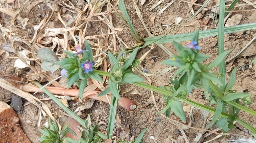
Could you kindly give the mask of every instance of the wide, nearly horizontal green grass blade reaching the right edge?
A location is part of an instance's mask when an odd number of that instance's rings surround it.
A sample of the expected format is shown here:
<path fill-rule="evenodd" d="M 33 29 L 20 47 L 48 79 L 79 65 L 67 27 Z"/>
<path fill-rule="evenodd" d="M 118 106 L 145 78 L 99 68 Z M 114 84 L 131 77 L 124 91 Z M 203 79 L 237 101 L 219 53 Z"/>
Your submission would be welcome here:
<path fill-rule="evenodd" d="M 224 34 L 234 33 L 234 32 L 239 32 L 239 31 L 245 31 L 245 30 L 251 30 L 251 29 L 256 29 L 256 22 L 248 23 L 248 24 L 235 25 L 235 26 L 230 26 L 230 27 L 224 27 Z M 209 34 L 209 32 L 210 32 L 210 34 Z M 162 39 L 156 41 L 155 44 L 170 43 L 170 42 L 173 42 L 173 41 L 179 42 L 179 41 L 191 40 L 193 34 L 194 33 L 168 35 L 168 36 L 165 36 Z M 217 36 L 217 35 L 218 35 L 218 29 L 212 29 L 211 31 L 210 30 L 204 30 L 204 31 L 199 31 L 198 38 L 207 38 L 207 37 Z M 144 45 L 150 45 L 153 41 L 159 39 L 160 37 L 161 36 L 144 38 L 144 41 L 146 42 Z"/>

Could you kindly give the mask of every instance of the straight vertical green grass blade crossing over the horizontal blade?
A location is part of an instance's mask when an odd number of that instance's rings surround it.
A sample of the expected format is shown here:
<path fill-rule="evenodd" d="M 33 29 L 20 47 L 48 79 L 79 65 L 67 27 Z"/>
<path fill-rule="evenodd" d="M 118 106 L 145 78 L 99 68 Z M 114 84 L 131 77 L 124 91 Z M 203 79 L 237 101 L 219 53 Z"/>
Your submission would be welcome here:
<path fill-rule="evenodd" d="M 218 31 L 218 54 L 224 52 L 224 18 L 225 18 L 225 0 L 220 0 L 219 3 L 219 31 Z M 224 59 L 219 63 L 219 73 L 225 75 L 225 61 Z M 222 85 L 225 86 L 225 76 L 219 77 Z M 222 89 L 223 86 L 220 85 Z"/>

